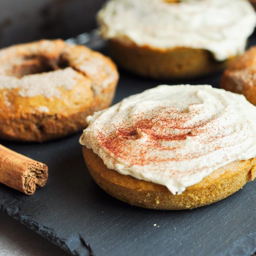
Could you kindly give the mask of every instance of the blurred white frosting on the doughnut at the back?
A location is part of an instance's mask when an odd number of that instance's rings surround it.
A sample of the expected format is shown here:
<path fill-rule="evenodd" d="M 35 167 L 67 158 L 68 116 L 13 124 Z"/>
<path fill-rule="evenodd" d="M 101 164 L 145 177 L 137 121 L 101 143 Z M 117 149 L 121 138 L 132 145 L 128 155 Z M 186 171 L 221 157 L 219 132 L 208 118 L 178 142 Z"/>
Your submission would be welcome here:
<path fill-rule="evenodd" d="M 110 0 L 98 21 L 105 39 L 206 49 L 223 61 L 243 53 L 256 14 L 246 0 Z"/>

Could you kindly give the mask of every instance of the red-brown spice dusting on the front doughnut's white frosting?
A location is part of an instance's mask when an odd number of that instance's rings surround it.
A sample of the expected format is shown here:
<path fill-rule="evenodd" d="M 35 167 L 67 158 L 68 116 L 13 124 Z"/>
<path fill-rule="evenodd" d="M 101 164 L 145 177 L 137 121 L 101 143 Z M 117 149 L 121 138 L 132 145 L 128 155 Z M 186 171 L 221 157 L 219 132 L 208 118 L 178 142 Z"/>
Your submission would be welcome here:
<path fill-rule="evenodd" d="M 200 157 L 203 154 L 200 151 L 187 152 L 185 155 L 179 153 L 181 142 L 188 137 L 207 134 L 207 141 L 203 141 L 206 140 L 203 139 L 204 136 L 200 137 L 200 142 L 207 144 L 210 140 L 215 141 L 223 136 L 221 133 L 214 132 L 215 129 L 217 132 L 219 130 L 215 127 L 216 117 L 208 120 L 196 119 L 196 121 L 191 121 L 196 115 L 202 114 L 202 110 L 200 112 L 195 109 L 189 113 L 188 111 L 177 111 L 169 108 L 168 111 L 164 110 L 166 109 L 160 109 L 159 115 L 153 115 L 153 117 L 151 115 L 150 119 L 146 118 L 148 113 L 134 115 L 132 126 L 127 120 L 124 120 L 118 123 L 118 126 L 113 126 L 114 131 L 111 134 L 104 135 L 99 132 L 100 144 L 110 154 L 128 161 L 130 165 L 143 166 L 152 162 L 156 164 L 157 162 L 182 161 L 183 159 Z M 165 141 L 172 143 L 165 144 Z M 213 147 L 213 150 L 217 149 L 220 149 L 218 145 Z M 150 154 L 152 151 L 161 151 L 163 154 Z"/>

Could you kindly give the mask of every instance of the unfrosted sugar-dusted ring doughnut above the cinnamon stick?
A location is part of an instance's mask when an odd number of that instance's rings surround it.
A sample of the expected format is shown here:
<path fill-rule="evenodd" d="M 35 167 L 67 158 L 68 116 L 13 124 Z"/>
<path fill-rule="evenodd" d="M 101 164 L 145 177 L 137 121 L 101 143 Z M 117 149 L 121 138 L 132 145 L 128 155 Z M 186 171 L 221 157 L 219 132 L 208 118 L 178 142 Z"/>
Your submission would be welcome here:
<path fill-rule="evenodd" d="M 40 40 L 0 50 L 0 138 L 47 141 L 73 134 L 110 105 L 115 64 L 84 46 Z"/>

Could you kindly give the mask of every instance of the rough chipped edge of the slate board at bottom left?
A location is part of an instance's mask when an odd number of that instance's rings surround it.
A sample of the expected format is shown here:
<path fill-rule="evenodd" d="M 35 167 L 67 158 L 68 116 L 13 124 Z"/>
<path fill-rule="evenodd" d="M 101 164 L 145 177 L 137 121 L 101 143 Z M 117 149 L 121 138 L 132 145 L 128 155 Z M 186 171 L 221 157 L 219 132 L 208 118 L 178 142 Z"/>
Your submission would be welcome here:
<path fill-rule="evenodd" d="M 13 196 L 10 196 L 13 197 Z M 12 203 L 13 202 L 13 203 Z M 32 229 L 34 232 L 47 239 L 49 242 L 54 243 L 61 249 L 65 250 L 67 253 L 75 256 L 94 256 L 93 251 L 88 243 L 84 240 L 81 234 L 77 234 L 77 239 L 80 240 L 81 245 L 85 249 L 84 254 L 79 253 L 75 249 L 71 249 L 67 245 L 67 239 L 61 238 L 54 232 L 54 229 L 40 225 L 35 221 L 29 220 L 28 215 L 19 214 L 21 208 L 19 205 L 19 199 L 13 197 L 12 202 L 9 202 L 7 198 L 0 198 L 0 209 L 5 212 L 8 216 L 11 216 L 13 219 L 17 220 L 21 224 L 25 225 L 27 228 Z"/>

